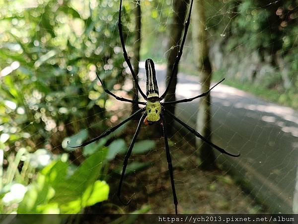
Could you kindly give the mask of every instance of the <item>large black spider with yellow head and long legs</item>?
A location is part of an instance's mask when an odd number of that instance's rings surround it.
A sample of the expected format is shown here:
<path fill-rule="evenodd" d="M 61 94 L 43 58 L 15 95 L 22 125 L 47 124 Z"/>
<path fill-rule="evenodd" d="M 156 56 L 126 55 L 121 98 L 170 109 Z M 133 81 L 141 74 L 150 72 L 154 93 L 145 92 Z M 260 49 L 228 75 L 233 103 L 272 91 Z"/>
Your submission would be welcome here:
<path fill-rule="evenodd" d="M 99 79 L 104 91 L 113 96 L 114 98 L 116 98 L 119 101 L 124 101 L 124 102 L 130 102 L 132 104 L 138 104 L 138 105 L 145 105 L 144 108 L 138 110 L 137 112 L 133 113 L 131 116 L 129 116 L 128 118 L 126 118 L 125 120 L 123 120 L 122 122 L 120 122 L 119 124 L 105 130 L 101 135 L 81 143 L 80 145 L 76 145 L 76 146 L 71 146 L 73 148 L 76 147 L 81 147 L 81 146 L 86 146 L 94 141 L 99 140 L 100 138 L 103 138 L 105 136 L 107 136 L 108 134 L 112 133 L 113 131 L 115 131 L 117 128 L 119 128 L 120 126 L 122 126 L 123 124 L 125 124 L 126 122 L 128 122 L 129 120 L 131 120 L 133 117 L 135 117 L 137 114 L 139 113 L 143 113 L 143 115 L 140 118 L 139 124 L 137 126 L 137 130 L 135 132 L 135 135 L 133 137 L 133 140 L 129 146 L 129 149 L 125 155 L 124 158 L 124 162 L 123 162 L 123 169 L 122 169 L 122 174 L 121 174 L 121 178 L 120 178 L 120 182 L 119 182 L 119 187 L 118 187 L 118 191 L 117 191 L 117 197 L 119 198 L 120 202 L 124 205 L 128 205 L 132 199 L 129 200 L 129 202 L 124 203 L 121 198 L 121 186 L 122 186 L 122 182 L 123 182 L 123 178 L 125 175 L 125 170 L 126 170 L 126 166 L 128 163 L 128 159 L 132 153 L 134 144 L 136 142 L 137 136 L 139 134 L 140 128 L 142 123 L 144 122 L 146 125 L 151 125 L 153 123 L 159 123 L 162 126 L 163 129 L 163 136 L 164 136 L 164 143 L 165 143 L 165 150 L 166 150 L 166 159 L 167 159 L 167 163 L 168 163 L 168 169 L 169 169 L 169 174 L 170 174 L 170 178 L 171 178 L 171 186 L 172 186 L 172 192 L 173 192 L 173 199 L 174 199 L 174 205 L 175 205 L 175 213 L 177 214 L 177 205 L 178 205 L 178 200 L 177 200 L 177 196 L 176 196 L 176 191 L 175 191 L 175 185 L 174 185 L 174 177 L 173 177 L 173 166 L 172 166 L 172 161 L 171 161 L 171 156 L 170 156 L 170 150 L 169 150 L 169 145 L 168 145 L 168 140 L 167 140 L 167 131 L 166 131 L 166 120 L 165 120 L 165 115 L 169 115 L 170 117 L 172 117 L 174 120 L 178 121 L 178 123 L 180 123 L 181 125 L 183 125 L 186 129 L 188 129 L 191 133 L 193 133 L 195 136 L 201 138 L 203 141 L 205 141 L 206 143 L 208 143 L 209 145 L 213 146 L 214 148 L 216 148 L 217 150 L 219 150 L 221 153 L 227 154 L 229 156 L 234 156 L 237 157 L 240 155 L 240 153 L 238 155 L 234 155 L 231 153 L 226 152 L 223 148 L 213 144 L 212 142 L 208 141 L 204 136 L 202 136 L 199 132 L 197 132 L 195 129 L 191 128 L 189 125 L 187 125 L 186 123 L 184 123 L 182 120 L 180 120 L 178 117 L 176 117 L 173 113 L 167 111 L 164 106 L 165 105 L 173 105 L 173 104 L 178 104 L 178 103 L 184 103 L 184 102 L 190 102 L 193 101 L 197 98 L 200 97 L 204 97 L 206 95 L 209 94 L 209 92 L 216 87 L 218 84 L 220 84 L 221 82 L 224 81 L 224 79 L 222 81 L 220 81 L 219 83 L 217 83 L 215 86 L 213 86 L 211 89 L 209 89 L 207 92 L 193 97 L 193 98 L 189 98 L 189 99 L 183 99 L 183 100 L 178 100 L 178 101 L 172 101 L 172 102 L 160 102 L 162 101 L 168 90 L 170 87 L 170 83 L 173 79 L 174 73 L 176 72 L 177 68 L 178 68 L 178 63 L 180 61 L 181 55 L 182 55 L 182 50 L 183 50 L 183 46 L 184 46 L 184 42 L 185 42 L 185 38 L 186 38 L 186 34 L 187 34 L 187 30 L 188 30 L 188 26 L 189 26 L 189 21 L 190 21 L 190 15 L 191 15 L 191 9 L 192 9 L 192 5 L 193 5 L 193 0 L 191 0 L 190 3 L 190 9 L 189 9 L 189 14 L 188 14 L 188 18 L 185 22 L 185 30 L 184 30 L 184 34 L 183 34 L 183 39 L 181 42 L 181 46 L 178 52 L 178 55 L 176 57 L 174 66 L 173 66 L 173 70 L 172 70 L 172 74 L 170 76 L 168 85 L 166 87 L 166 90 L 164 91 L 164 93 L 159 97 L 159 92 L 158 92 L 158 86 L 157 86 L 157 81 L 156 81 L 156 77 L 155 77 L 155 69 L 154 69 L 154 63 L 151 59 L 147 59 L 146 63 L 145 63 L 145 69 L 146 69 L 146 95 L 143 93 L 143 91 L 141 90 L 139 84 L 138 84 L 138 80 L 137 80 L 137 76 L 134 73 L 133 67 L 131 65 L 130 59 L 127 56 L 127 52 L 125 49 L 125 44 L 124 44 L 124 39 L 123 39 L 123 33 L 122 33 L 122 23 L 121 23 L 121 8 L 122 8 L 122 0 L 120 0 L 120 7 L 119 7 L 119 20 L 118 20 L 118 28 L 119 28 L 119 33 L 120 33 L 120 40 L 121 40 L 121 45 L 123 48 L 123 56 L 124 59 L 126 61 L 126 63 L 128 64 L 128 67 L 130 68 L 130 71 L 132 73 L 132 76 L 134 78 L 134 81 L 136 83 L 136 86 L 139 90 L 139 92 L 141 93 L 141 95 L 144 97 L 144 99 L 147 101 L 147 103 L 145 102 L 139 102 L 139 101 L 134 101 L 134 100 L 129 100 L 129 99 L 125 99 L 122 97 L 118 97 L 115 94 L 111 93 L 109 90 L 107 90 L 102 82 L 102 80 L 99 78 L 99 75 L 96 73 L 97 78 Z M 69 142 L 68 142 L 69 144 Z"/>

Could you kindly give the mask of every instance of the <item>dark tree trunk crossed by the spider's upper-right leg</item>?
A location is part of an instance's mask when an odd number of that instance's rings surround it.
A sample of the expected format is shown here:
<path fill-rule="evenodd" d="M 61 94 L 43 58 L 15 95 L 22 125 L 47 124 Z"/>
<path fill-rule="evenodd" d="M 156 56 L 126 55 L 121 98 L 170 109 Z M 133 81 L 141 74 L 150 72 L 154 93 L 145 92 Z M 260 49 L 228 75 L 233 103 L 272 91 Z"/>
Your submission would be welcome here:
<path fill-rule="evenodd" d="M 173 16 L 173 21 L 169 26 L 170 33 L 169 33 L 169 42 L 167 47 L 169 51 L 168 51 L 168 60 L 167 60 L 168 62 L 167 62 L 167 70 L 166 70 L 166 80 L 167 80 L 166 85 L 168 84 L 168 81 L 173 71 L 175 59 L 178 55 L 180 39 L 182 38 L 182 33 L 184 30 L 184 22 L 185 22 L 185 16 L 187 13 L 188 3 L 189 3 L 189 0 L 173 1 L 174 16 Z M 175 91 L 176 91 L 176 84 L 177 84 L 177 71 L 178 69 L 174 74 L 170 88 L 164 100 L 165 102 L 175 101 L 176 99 Z M 172 113 L 175 112 L 174 106 L 168 106 L 167 109 Z M 169 125 L 171 124 L 171 122 L 172 122 L 172 119 L 167 119 L 167 123 Z"/>

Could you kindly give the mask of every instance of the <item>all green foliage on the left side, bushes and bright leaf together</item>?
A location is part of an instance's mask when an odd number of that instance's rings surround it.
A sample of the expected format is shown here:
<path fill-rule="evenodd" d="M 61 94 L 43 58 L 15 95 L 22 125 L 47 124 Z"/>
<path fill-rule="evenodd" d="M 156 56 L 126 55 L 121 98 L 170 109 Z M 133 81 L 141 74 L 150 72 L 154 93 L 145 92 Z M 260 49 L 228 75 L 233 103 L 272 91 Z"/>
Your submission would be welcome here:
<path fill-rule="evenodd" d="M 127 33 L 134 5 L 123 6 Z M 0 0 L 1 213 L 78 213 L 107 199 L 109 161 L 127 149 L 111 137 L 125 126 L 82 153 L 67 141 L 111 125 L 113 102 L 95 71 L 122 90 L 118 10 L 118 0 Z M 132 35 L 124 37 L 130 53 Z"/>

